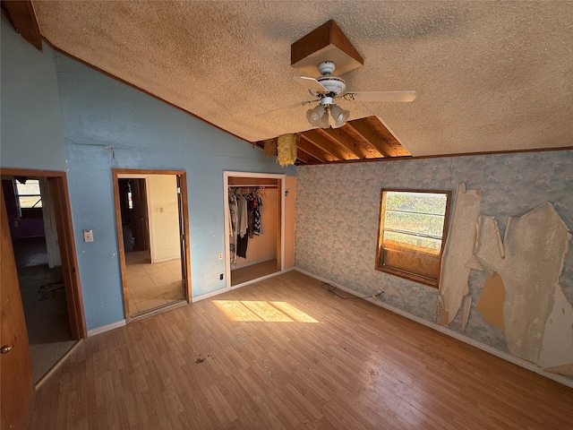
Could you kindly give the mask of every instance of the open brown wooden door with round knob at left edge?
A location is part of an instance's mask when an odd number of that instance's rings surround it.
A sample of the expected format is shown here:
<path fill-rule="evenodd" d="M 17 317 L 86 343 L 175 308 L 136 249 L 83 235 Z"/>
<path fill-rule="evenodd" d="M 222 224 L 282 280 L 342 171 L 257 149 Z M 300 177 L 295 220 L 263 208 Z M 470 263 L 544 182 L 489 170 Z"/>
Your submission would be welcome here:
<path fill-rule="evenodd" d="M 8 227 L 8 215 L 2 200 L 2 280 L 0 287 L 0 392 L 2 393 L 1 428 L 28 428 L 34 404 L 34 377 L 30 345 L 21 305 L 18 272 Z"/>

